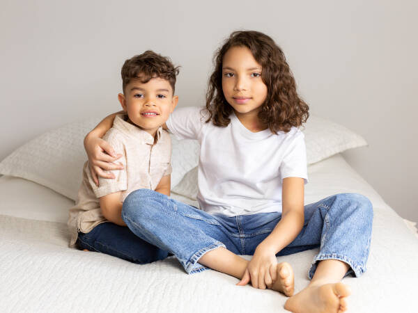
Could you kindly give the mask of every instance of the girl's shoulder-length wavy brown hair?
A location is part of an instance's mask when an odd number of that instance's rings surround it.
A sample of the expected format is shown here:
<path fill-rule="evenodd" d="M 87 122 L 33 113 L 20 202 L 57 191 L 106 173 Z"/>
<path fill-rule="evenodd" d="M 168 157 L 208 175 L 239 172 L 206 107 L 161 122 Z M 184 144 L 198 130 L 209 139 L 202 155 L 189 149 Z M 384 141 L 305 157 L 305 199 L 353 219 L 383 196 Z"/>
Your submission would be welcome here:
<path fill-rule="evenodd" d="M 296 83 L 283 51 L 268 35 L 258 31 L 234 31 L 215 53 L 215 70 L 209 78 L 206 93 L 208 120 L 216 126 L 226 127 L 233 107 L 222 91 L 222 61 L 231 47 L 247 47 L 262 66 L 261 79 L 268 95 L 258 112 L 258 119 L 277 134 L 300 127 L 309 118 L 309 106 L 297 95 Z"/>

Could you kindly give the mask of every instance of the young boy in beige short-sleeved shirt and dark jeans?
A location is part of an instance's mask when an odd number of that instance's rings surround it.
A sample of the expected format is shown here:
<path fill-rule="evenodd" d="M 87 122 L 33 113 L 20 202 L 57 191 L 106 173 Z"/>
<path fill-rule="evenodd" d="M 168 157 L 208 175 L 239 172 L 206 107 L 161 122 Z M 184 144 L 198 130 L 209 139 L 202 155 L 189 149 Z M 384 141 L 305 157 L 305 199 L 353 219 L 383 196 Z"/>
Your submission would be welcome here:
<path fill-rule="evenodd" d="M 97 179 L 88 170 L 88 161 L 84 163 L 82 186 L 68 220 L 70 246 L 143 264 L 164 259 L 168 252 L 129 230 L 121 218 L 122 204 L 139 188 L 170 195 L 171 140 L 162 125 L 178 102 L 174 96 L 178 67 L 145 51 L 125 61 L 121 74 L 123 93 L 118 99 L 123 113 L 104 138 L 121 155 L 118 163 L 123 169 Z"/>

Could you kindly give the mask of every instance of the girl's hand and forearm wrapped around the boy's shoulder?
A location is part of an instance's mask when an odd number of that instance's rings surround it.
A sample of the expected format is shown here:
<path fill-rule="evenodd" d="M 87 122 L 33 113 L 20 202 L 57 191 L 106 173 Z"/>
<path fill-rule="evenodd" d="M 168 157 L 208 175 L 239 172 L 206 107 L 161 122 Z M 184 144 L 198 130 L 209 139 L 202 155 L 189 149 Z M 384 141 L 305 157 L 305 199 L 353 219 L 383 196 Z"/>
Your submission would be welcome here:
<path fill-rule="evenodd" d="M 122 154 L 116 154 L 113 147 L 102 136 L 112 127 L 116 115 L 123 113 L 113 113 L 102 120 L 92 131 L 84 138 L 84 149 L 88 157 L 88 166 L 91 177 L 97 186 L 99 186 L 98 176 L 104 178 L 114 178 L 114 175 L 104 170 L 122 170 L 123 166 L 114 163 Z"/>

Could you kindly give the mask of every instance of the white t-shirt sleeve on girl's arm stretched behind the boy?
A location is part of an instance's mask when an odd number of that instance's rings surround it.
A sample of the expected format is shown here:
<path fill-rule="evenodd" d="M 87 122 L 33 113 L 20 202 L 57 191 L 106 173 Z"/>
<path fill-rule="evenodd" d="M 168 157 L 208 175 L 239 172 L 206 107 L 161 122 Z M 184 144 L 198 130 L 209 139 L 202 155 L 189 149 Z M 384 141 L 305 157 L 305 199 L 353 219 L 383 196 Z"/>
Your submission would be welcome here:
<path fill-rule="evenodd" d="M 205 117 L 201 106 L 178 108 L 171 113 L 166 124 L 178 139 L 199 139 Z"/>

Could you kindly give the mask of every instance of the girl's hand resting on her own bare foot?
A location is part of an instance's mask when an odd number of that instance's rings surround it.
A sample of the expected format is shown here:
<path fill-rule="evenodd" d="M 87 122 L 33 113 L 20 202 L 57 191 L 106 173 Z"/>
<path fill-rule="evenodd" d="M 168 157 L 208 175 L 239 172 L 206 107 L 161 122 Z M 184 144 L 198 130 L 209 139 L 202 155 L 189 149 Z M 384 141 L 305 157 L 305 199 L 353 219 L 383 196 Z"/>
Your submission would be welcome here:
<path fill-rule="evenodd" d="M 253 258 L 238 286 L 245 286 L 251 280 L 252 287 L 265 289 L 277 280 L 277 259 L 270 247 L 258 245 Z"/>

